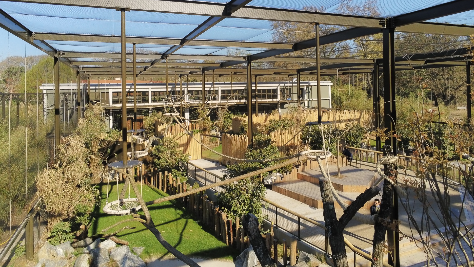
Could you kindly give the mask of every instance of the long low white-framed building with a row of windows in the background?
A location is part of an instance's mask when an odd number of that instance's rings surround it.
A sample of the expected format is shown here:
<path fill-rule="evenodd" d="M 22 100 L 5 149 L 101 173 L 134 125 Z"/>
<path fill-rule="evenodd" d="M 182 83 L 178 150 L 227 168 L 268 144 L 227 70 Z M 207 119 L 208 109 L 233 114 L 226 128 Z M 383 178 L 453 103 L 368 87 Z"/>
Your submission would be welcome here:
<path fill-rule="evenodd" d="M 301 82 L 301 88 L 296 88 L 296 82 L 255 82 L 252 83 L 253 112 L 258 114 L 278 110 L 284 113 L 292 106 L 301 105 L 306 108 L 317 108 L 318 94 L 316 82 Z M 321 81 L 321 107 L 330 109 L 330 81 Z M 40 89 L 44 94 L 44 112 L 54 106 L 54 84 L 43 84 Z M 75 118 L 77 107 L 77 84 L 60 84 L 60 113 L 61 120 Z M 164 106 L 175 106 L 186 118 L 190 118 L 197 106 L 202 104 L 201 83 L 137 83 L 137 114 L 149 114 L 153 110 L 163 110 Z M 133 115 L 134 103 L 133 83 L 127 81 L 128 115 Z M 166 95 L 170 95 L 167 99 Z M 215 82 L 205 83 L 205 102 L 207 105 L 226 105 L 232 112 L 247 111 L 247 96 L 245 82 Z M 87 98 L 89 96 L 89 99 Z M 109 118 L 110 127 L 120 124 L 120 109 L 122 106 L 122 89 L 120 80 L 90 80 L 81 86 L 81 110 L 87 101 L 102 105 Z"/>

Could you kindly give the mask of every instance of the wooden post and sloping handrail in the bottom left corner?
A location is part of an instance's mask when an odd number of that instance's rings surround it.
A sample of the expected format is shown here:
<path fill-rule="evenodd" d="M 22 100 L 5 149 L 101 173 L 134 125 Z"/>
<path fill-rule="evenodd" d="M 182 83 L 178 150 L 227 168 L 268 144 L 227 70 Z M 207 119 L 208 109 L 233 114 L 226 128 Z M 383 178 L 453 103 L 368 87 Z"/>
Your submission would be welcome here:
<path fill-rule="evenodd" d="M 0 263 L 5 260 L 5 257 L 9 254 L 12 247 L 16 245 L 17 239 L 23 234 L 23 229 L 25 229 L 25 248 L 26 248 L 26 258 L 27 260 L 34 259 L 34 250 L 35 243 L 40 239 L 42 234 L 42 220 L 39 215 L 39 206 L 40 201 L 36 201 L 33 205 L 33 208 L 28 212 L 27 216 L 23 221 L 18 225 L 15 232 L 10 237 L 7 245 L 0 252 Z M 45 222 L 43 221 L 43 224 Z"/>

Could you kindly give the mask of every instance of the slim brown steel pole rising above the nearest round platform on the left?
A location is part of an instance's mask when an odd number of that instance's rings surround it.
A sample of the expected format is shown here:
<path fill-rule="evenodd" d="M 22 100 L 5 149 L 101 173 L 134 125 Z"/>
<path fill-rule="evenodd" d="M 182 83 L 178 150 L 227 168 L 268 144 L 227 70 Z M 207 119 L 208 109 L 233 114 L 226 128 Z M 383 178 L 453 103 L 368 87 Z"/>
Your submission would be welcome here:
<path fill-rule="evenodd" d="M 121 68 L 122 68 L 122 163 L 128 163 L 127 142 L 127 55 L 125 47 L 125 9 L 120 9 L 120 40 L 121 40 Z"/>

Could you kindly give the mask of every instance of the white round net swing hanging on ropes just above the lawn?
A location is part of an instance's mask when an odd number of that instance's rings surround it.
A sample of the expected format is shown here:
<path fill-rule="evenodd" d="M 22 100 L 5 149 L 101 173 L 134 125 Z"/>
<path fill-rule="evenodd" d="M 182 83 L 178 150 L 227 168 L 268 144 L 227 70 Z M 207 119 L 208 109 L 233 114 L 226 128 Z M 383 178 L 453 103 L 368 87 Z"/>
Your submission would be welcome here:
<path fill-rule="evenodd" d="M 128 161 L 128 162 L 138 162 L 138 161 Z M 114 163 L 116 163 L 116 162 L 114 162 Z M 140 166 L 140 172 L 139 173 L 140 173 L 140 181 L 141 181 L 141 179 L 142 179 L 142 177 L 141 177 L 141 164 L 139 166 Z M 113 180 L 114 179 L 113 177 L 115 177 L 115 180 L 117 181 L 117 200 L 109 202 L 109 181 Z M 102 211 L 104 213 L 113 214 L 113 215 L 128 215 L 128 214 L 132 214 L 133 212 L 136 212 L 137 210 L 140 210 L 142 208 L 142 206 L 140 205 L 140 202 L 138 201 L 138 199 L 137 198 L 130 198 L 130 187 L 131 187 L 131 185 L 128 185 L 128 198 L 119 199 L 120 195 L 119 195 L 119 192 L 118 192 L 118 173 L 117 173 L 117 171 L 114 171 L 113 177 L 112 177 L 112 175 L 109 175 L 109 177 L 107 177 L 107 198 L 106 198 L 105 206 L 102 208 Z"/>

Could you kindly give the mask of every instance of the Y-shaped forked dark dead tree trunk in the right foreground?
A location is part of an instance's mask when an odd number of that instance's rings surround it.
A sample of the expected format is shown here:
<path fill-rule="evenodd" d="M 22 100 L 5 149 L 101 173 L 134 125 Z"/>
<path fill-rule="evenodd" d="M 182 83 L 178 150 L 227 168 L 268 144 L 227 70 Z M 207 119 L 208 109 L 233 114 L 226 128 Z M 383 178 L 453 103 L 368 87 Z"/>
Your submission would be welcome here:
<path fill-rule="evenodd" d="M 329 180 L 326 178 L 319 179 L 321 189 L 321 197 L 323 201 L 324 223 L 328 229 L 329 245 L 331 246 L 332 259 L 335 267 L 348 267 L 346 247 L 344 243 L 343 231 L 347 223 L 356 215 L 356 212 L 365 205 L 380 191 L 380 188 L 373 186 L 365 190 L 357 196 L 344 211 L 341 218 L 337 219 L 336 210 L 334 208 L 334 199 L 332 197 Z"/>

